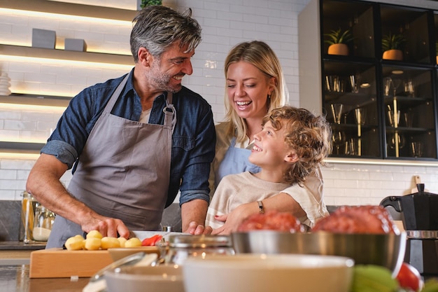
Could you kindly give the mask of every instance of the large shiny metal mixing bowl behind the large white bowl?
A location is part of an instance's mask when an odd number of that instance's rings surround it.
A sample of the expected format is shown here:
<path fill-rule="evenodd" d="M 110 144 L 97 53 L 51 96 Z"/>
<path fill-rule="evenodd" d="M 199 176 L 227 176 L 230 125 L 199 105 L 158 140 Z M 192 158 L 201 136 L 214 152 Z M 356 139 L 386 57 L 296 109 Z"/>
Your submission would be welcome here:
<path fill-rule="evenodd" d="M 396 275 L 404 260 L 406 233 L 289 233 L 253 230 L 232 233 L 236 253 L 299 253 L 353 258 L 356 265 L 381 265 Z"/>

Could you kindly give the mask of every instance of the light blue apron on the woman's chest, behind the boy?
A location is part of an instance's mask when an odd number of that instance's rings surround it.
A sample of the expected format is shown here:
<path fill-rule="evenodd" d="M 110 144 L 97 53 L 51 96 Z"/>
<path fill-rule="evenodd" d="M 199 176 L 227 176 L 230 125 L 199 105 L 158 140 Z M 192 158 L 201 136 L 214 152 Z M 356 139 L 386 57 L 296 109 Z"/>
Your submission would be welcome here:
<path fill-rule="evenodd" d="M 260 172 L 260 167 L 253 165 L 253 163 L 248 160 L 251 151 L 246 148 L 236 148 L 234 147 L 235 145 L 236 137 L 233 137 L 227 152 L 225 152 L 224 159 L 220 162 L 218 170 L 216 170 L 216 188 L 222 177 L 228 174 L 239 174 L 241 172 L 252 172 L 253 174 L 256 174 L 257 172 Z"/>

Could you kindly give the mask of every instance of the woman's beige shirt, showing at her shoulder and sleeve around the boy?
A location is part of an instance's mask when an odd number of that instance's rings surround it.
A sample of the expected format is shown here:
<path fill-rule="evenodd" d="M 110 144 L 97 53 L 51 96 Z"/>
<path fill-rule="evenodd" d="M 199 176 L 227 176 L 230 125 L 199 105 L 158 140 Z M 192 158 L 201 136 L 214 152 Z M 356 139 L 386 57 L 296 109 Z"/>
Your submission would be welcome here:
<path fill-rule="evenodd" d="M 216 125 L 216 155 L 215 158 L 213 159 L 213 162 L 211 163 L 210 178 L 209 178 L 210 190 L 211 190 L 210 192 L 211 204 L 213 204 L 214 197 L 216 196 L 215 193 L 216 186 L 214 183 L 215 181 L 214 176 L 216 173 L 216 169 L 218 169 L 220 162 L 222 162 L 223 158 L 225 157 L 225 153 L 227 152 L 227 149 L 231 145 L 231 140 L 225 136 L 226 126 L 227 125 L 225 123 Z M 236 142 L 236 147 L 248 148 L 248 149 L 253 148 L 252 144 L 250 145 L 248 144 L 250 144 L 249 139 L 243 141 L 243 143 L 240 144 Z M 318 176 L 307 177 L 306 181 L 304 181 L 304 186 L 299 186 L 297 184 L 292 186 L 288 185 L 286 188 L 284 188 L 281 191 L 279 190 L 277 193 L 287 193 L 288 195 L 293 197 L 293 199 L 306 212 L 306 218 L 300 219 L 301 223 L 309 226 L 309 228 L 312 228 L 313 225 L 316 223 L 316 221 L 318 221 L 318 219 L 329 216 L 327 207 L 325 206 L 325 202 L 324 202 L 323 176 L 320 172 L 318 173 Z M 245 203 L 255 202 L 255 201 L 256 200 L 246 201 Z M 207 216 L 209 215 L 207 214 Z"/>

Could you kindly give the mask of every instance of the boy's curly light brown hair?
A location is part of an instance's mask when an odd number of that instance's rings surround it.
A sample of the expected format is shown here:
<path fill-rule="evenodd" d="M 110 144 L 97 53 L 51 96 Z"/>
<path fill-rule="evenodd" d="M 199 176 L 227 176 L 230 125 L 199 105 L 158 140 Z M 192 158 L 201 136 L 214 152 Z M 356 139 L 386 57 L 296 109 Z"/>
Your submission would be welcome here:
<path fill-rule="evenodd" d="M 263 125 L 268 121 L 275 130 L 285 127 L 285 144 L 298 156 L 284 174 L 286 182 L 302 183 L 306 176 L 316 174 L 319 165 L 325 165 L 324 158 L 332 151 L 332 128 L 323 116 L 282 106 L 264 116 Z"/>

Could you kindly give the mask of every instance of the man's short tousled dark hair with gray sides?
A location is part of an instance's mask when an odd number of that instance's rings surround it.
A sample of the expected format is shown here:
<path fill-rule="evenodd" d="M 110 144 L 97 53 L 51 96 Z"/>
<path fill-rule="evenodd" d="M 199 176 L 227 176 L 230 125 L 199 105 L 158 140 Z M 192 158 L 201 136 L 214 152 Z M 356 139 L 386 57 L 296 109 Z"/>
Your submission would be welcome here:
<path fill-rule="evenodd" d="M 201 42 L 201 27 L 191 18 L 192 10 L 179 13 L 166 6 L 146 6 L 132 21 L 131 52 L 134 62 L 139 62 L 139 48 L 146 48 L 154 57 L 162 53 L 176 41 L 180 48 L 188 46 L 187 53 Z"/>

